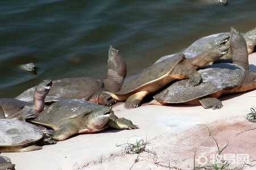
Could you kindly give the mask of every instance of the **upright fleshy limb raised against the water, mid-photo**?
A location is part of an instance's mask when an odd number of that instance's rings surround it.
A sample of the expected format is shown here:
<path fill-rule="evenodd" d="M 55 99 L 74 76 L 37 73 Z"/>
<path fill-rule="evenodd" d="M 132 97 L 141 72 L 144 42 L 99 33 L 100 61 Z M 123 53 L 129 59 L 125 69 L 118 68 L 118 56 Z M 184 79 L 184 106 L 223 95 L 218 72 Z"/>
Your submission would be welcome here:
<path fill-rule="evenodd" d="M 103 81 L 107 90 L 117 92 L 123 86 L 123 81 L 126 76 L 125 59 L 110 45 L 108 58 L 108 74 Z"/>

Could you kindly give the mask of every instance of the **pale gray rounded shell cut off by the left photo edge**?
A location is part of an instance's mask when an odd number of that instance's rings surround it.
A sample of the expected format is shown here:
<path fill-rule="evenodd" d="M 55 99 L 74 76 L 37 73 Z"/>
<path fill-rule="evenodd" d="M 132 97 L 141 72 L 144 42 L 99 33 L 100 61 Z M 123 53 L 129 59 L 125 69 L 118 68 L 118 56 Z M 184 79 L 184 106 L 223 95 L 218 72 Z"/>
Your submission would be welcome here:
<path fill-rule="evenodd" d="M 26 146 L 42 137 L 43 132 L 38 126 L 19 120 L 0 120 L 0 147 Z"/>

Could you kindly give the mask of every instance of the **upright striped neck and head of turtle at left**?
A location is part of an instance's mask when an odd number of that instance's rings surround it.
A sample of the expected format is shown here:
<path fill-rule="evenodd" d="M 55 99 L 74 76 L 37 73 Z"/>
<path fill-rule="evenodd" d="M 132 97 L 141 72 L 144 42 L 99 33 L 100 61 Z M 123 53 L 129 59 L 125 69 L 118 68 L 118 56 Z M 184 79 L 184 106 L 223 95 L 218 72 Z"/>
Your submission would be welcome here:
<path fill-rule="evenodd" d="M 52 88 L 52 80 L 46 79 L 43 80 L 35 88 L 34 92 L 34 111 L 35 114 L 38 114 L 44 109 L 44 99 L 46 98 L 49 90 Z"/>

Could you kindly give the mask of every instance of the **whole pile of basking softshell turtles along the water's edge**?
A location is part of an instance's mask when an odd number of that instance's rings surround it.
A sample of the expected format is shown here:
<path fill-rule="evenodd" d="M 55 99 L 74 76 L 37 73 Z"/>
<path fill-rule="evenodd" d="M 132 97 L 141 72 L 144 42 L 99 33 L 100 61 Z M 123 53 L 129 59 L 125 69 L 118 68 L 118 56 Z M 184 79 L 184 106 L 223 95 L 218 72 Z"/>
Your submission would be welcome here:
<path fill-rule="evenodd" d="M 256 73 L 250 72 L 248 62 L 255 45 L 256 28 L 241 35 L 232 27 L 127 77 L 125 59 L 110 46 L 105 80 L 46 79 L 15 99 L 0 99 L 0 152 L 39 150 L 77 133 L 139 128 L 115 116 L 111 106 L 117 101 L 125 101 L 129 109 L 146 98 L 154 99 L 150 104 L 220 109 L 219 96 L 256 88 Z"/>

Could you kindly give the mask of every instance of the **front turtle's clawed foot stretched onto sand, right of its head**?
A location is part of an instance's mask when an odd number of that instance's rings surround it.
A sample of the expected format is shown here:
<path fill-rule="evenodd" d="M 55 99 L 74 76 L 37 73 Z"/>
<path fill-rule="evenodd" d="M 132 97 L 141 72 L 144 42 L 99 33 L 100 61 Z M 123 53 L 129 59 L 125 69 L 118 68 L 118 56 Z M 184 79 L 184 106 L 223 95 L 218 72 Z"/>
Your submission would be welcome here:
<path fill-rule="evenodd" d="M 126 118 L 118 118 L 115 114 L 110 114 L 107 124 L 110 128 L 115 129 L 138 129 L 138 125 L 134 125 L 133 122 Z"/>

